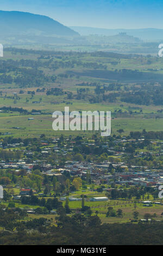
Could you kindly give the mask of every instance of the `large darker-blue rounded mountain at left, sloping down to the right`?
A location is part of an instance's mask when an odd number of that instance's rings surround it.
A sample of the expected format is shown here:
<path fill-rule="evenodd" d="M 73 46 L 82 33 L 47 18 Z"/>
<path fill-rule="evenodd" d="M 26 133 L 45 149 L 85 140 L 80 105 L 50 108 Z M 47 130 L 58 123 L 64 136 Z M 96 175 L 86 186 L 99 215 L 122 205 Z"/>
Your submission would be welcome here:
<path fill-rule="evenodd" d="M 79 35 L 47 16 L 21 11 L 0 11 L 1 35 Z"/>

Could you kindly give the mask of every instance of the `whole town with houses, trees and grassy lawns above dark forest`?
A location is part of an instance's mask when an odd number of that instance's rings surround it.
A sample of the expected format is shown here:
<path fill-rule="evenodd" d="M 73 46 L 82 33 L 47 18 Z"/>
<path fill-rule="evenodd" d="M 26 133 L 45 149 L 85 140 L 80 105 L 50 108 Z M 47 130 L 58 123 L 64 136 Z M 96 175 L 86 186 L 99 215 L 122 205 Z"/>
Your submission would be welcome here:
<path fill-rule="evenodd" d="M 162 132 L 145 130 L 104 138 L 1 138 L 1 207 L 28 217 L 54 215 L 54 224 L 64 205 L 70 216 L 97 215 L 107 223 L 160 221 L 161 138 Z"/>

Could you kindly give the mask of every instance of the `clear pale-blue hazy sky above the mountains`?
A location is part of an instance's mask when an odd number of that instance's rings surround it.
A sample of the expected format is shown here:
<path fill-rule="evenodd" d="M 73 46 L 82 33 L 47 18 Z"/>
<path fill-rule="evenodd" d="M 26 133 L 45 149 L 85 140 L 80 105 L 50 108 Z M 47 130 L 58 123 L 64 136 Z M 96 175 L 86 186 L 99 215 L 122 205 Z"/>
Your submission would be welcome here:
<path fill-rule="evenodd" d="M 0 9 L 47 15 L 66 26 L 163 28 L 162 0 L 5 0 Z"/>

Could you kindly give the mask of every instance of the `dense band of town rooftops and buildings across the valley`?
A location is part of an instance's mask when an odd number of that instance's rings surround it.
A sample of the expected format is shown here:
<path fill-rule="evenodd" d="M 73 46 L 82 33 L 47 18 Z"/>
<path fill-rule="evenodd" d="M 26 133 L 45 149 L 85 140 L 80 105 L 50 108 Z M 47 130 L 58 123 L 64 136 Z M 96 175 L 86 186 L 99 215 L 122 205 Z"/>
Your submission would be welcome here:
<path fill-rule="evenodd" d="M 43 151 L 45 153 L 46 151 Z M 27 153 L 26 153 L 27 154 Z M 41 171 L 47 175 L 62 175 L 65 170 L 70 172 L 71 175 L 86 176 L 87 172 L 90 172 L 91 179 L 95 184 L 101 184 L 101 180 L 104 180 L 107 184 L 120 185 L 141 185 L 141 186 L 159 186 L 163 184 L 163 171 L 148 169 L 145 166 L 126 166 L 124 162 L 113 164 L 111 162 L 103 163 L 88 163 L 68 161 L 65 163 L 64 168 L 59 168 L 58 172 L 54 172 L 54 166 L 49 163 L 42 162 L 40 160 L 27 163 L 26 160 L 18 160 L 18 162 L 1 161 L 0 169 L 14 169 L 15 172 L 20 172 L 24 169 L 28 174 L 32 172 L 33 167 L 36 164 L 41 163 Z M 121 167 L 122 172 L 112 172 L 117 167 Z M 126 170 L 127 169 L 127 170 Z M 114 181 L 113 181 L 114 180 Z"/>

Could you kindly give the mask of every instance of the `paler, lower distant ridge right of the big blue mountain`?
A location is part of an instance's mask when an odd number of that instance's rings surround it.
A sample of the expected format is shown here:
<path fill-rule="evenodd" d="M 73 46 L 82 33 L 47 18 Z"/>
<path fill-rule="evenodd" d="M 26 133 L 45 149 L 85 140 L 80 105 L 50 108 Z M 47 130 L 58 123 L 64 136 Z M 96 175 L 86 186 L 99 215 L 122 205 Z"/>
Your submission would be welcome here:
<path fill-rule="evenodd" d="M 162 40 L 163 29 L 157 28 L 142 28 L 142 29 L 106 29 L 106 28 L 92 28 L 92 27 L 70 27 L 80 35 L 117 35 L 119 33 L 127 33 L 127 35 L 135 36 L 142 40 Z"/>

